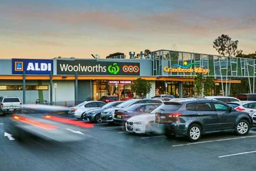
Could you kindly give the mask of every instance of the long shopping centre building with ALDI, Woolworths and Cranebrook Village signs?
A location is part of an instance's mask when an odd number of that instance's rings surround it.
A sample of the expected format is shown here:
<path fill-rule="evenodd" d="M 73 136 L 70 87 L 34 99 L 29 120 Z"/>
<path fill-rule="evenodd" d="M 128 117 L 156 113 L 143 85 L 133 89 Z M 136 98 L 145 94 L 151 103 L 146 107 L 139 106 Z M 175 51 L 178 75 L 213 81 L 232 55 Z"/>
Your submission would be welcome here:
<path fill-rule="evenodd" d="M 214 77 L 212 95 L 232 94 L 232 85 L 249 81 L 254 93 L 255 60 L 200 53 L 158 50 L 150 59 L 1 59 L 0 96 L 24 103 L 98 100 L 104 95 L 133 96 L 137 78 L 150 81 L 147 97 L 171 94 L 194 96 L 196 73 Z M 24 100 L 25 99 L 25 100 Z"/>

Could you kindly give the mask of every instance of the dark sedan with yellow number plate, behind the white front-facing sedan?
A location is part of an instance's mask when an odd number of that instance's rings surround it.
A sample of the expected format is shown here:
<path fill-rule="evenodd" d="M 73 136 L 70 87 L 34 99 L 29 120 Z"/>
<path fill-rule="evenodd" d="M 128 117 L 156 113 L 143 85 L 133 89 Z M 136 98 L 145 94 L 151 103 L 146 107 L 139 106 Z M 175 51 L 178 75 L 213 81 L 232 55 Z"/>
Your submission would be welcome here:
<path fill-rule="evenodd" d="M 161 104 L 134 104 L 125 109 L 117 109 L 114 114 L 114 123 L 118 125 L 125 125 L 126 121 L 142 113 L 150 113 L 152 110 L 160 106 Z"/>

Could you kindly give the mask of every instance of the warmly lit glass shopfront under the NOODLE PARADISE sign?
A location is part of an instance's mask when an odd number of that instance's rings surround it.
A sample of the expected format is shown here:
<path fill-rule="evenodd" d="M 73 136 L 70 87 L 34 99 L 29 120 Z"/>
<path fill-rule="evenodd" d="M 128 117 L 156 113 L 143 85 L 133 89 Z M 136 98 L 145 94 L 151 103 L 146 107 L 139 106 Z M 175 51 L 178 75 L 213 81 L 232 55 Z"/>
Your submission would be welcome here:
<path fill-rule="evenodd" d="M 115 81 L 116 82 L 116 81 Z M 106 95 L 114 95 L 118 96 L 119 99 L 131 98 L 133 95 L 131 93 L 131 85 L 125 84 L 124 81 L 117 81 L 117 87 L 115 82 L 106 81 L 106 80 L 96 80 L 93 82 L 93 99 L 98 100 L 101 99 L 102 96 Z"/>

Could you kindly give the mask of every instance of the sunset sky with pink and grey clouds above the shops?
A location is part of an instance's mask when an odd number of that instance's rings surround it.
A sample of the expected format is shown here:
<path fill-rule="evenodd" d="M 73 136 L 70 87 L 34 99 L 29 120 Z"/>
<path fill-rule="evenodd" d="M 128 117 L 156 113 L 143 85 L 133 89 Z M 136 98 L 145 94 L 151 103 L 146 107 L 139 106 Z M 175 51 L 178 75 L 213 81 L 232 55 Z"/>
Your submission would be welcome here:
<path fill-rule="evenodd" d="M 0 58 L 91 58 L 171 49 L 218 54 L 227 34 L 256 50 L 256 0 L 0 0 Z"/>

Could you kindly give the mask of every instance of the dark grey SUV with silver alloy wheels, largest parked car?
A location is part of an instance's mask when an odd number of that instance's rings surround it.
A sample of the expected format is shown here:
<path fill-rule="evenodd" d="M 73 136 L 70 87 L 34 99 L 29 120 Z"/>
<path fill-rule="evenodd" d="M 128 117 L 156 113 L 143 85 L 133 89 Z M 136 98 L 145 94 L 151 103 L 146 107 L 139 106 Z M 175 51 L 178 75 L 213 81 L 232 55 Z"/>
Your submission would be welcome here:
<path fill-rule="evenodd" d="M 162 127 L 165 136 L 176 134 L 198 141 L 202 134 L 234 131 L 248 134 L 252 126 L 249 113 L 240 112 L 219 100 L 183 99 L 164 102 L 155 113 L 154 127 Z"/>

